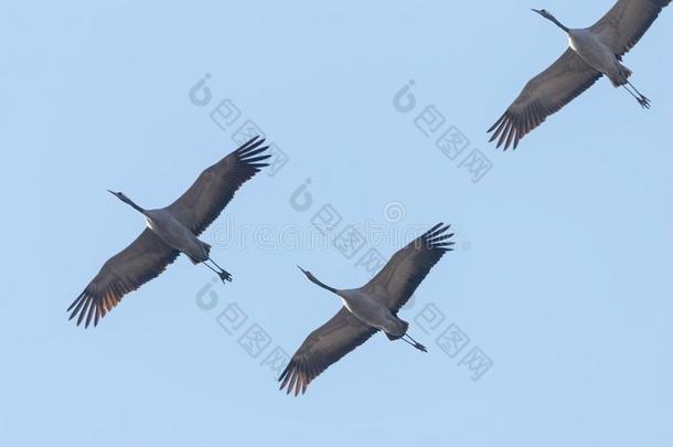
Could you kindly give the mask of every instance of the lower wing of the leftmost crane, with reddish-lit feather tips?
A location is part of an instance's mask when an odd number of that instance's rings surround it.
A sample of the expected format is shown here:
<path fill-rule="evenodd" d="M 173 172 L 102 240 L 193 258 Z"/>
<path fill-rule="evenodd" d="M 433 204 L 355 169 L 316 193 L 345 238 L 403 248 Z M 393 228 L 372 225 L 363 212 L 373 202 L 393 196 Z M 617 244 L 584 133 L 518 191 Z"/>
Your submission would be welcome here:
<path fill-rule="evenodd" d="M 113 310 L 121 298 L 159 276 L 171 264 L 179 251 L 168 246 L 151 230 L 146 228 L 128 247 L 109 258 L 98 275 L 86 286 L 67 311 L 88 328 Z M 86 320 L 85 320 L 86 317 Z"/>

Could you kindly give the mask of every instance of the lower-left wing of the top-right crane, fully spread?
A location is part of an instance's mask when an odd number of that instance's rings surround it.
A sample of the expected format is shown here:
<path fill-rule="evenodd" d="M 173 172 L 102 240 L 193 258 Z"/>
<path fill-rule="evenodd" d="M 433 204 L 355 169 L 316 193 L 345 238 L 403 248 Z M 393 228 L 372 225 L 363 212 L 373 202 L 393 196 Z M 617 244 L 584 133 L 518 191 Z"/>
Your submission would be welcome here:
<path fill-rule="evenodd" d="M 514 149 L 526 134 L 547 117 L 579 96 L 602 74 L 583 61 L 571 49 L 547 70 L 532 78 L 500 119 L 488 130 L 489 141 L 498 138 L 498 147 Z"/>

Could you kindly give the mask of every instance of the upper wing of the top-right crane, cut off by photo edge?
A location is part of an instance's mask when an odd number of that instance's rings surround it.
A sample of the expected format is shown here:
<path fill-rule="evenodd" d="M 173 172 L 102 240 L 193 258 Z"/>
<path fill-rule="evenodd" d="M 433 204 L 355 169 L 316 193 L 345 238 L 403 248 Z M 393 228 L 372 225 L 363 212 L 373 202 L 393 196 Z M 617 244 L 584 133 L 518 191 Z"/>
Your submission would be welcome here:
<path fill-rule="evenodd" d="M 621 57 L 638 43 L 669 3 L 671 0 L 619 0 L 589 30 Z"/>

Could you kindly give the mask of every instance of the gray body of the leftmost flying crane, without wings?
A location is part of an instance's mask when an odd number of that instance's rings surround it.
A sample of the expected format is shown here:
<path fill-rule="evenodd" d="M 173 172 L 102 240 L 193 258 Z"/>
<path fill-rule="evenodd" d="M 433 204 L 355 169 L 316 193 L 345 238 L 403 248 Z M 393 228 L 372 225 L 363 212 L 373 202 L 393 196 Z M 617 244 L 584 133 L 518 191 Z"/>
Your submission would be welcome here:
<path fill-rule="evenodd" d="M 148 210 L 143 214 L 147 226 L 165 244 L 188 255 L 194 264 L 207 260 L 211 246 L 196 237 L 169 210 Z"/>

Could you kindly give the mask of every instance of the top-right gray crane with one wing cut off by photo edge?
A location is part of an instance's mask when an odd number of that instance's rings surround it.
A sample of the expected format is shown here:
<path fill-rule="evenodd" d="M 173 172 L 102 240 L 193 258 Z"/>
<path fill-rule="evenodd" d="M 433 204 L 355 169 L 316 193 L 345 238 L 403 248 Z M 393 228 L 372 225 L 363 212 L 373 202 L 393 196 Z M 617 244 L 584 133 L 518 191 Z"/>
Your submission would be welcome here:
<path fill-rule="evenodd" d="M 567 35 L 569 47 L 547 70 L 532 78 L 502 117 L 488 130 L 490 141 L 514 149 L 549 115 L 592 86 L 603 74 L 623 87 L 643 108 L 650 99 L 631 84 L 632 72 L 621 63 L 671 0 L 619 0 L 592 26 L 569 29 L 546 10 L 536 10 Z"/>

